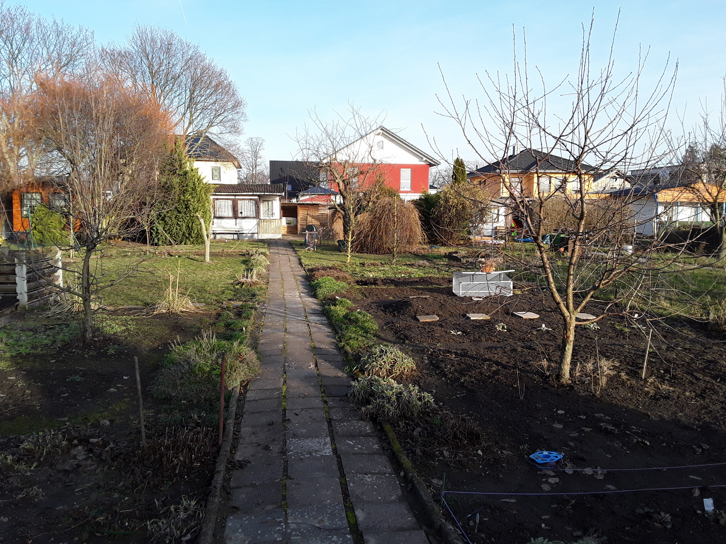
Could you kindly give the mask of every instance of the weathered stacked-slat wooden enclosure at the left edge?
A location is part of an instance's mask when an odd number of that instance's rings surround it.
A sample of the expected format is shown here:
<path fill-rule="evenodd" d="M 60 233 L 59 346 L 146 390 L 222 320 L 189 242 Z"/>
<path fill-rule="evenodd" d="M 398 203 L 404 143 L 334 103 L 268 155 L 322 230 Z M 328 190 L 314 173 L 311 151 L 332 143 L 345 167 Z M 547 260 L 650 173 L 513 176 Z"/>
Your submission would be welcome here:
<path fill-rule="evenodd" d="M 31 310 L 59 296 L 63 284 L 60 251 L 0 248 L 0 297 L 13 297 L 19 310 Z"/>

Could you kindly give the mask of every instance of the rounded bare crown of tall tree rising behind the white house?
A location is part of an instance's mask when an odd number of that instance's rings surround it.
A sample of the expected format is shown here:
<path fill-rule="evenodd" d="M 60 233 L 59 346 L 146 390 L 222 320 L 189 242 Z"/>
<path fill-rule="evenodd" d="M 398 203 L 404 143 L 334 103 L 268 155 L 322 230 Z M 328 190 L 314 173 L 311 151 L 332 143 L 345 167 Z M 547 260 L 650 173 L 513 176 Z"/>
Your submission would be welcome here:
<path fill-rule="evenodd" d="M 247 103 L 227 70 L 171 30 L 138 25 L 126 44 L 105 49 L 103 59 L 124 86 L 169 112 L 185 142 L 211 133 L 226 143 L 242 134 Z"/>

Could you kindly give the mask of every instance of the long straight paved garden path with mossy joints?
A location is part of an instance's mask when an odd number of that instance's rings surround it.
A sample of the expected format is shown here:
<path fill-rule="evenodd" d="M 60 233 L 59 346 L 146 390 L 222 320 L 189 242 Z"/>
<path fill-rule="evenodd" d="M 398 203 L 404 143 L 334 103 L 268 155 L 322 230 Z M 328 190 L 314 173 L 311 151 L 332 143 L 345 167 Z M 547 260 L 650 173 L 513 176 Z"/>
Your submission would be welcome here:
<path fill-rule="evenodd" d="M 351 380 L 298 257 L 280 241 L 269 260 L 225 543 L 354 543 L 361 533 L 366 544 L 428 543 L 378 435 L 346 400 Z"/>

